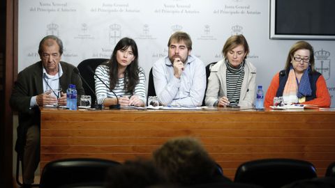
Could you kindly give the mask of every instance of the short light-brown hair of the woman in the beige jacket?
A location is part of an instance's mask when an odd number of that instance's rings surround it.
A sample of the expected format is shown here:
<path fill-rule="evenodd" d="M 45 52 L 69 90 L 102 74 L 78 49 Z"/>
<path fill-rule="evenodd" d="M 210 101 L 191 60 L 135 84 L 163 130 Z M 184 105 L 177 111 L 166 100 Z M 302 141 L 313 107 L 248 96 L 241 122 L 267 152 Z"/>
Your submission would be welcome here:
<path fill-rule="evenodd" d="M 228 52 L 239 45 L 242 45 L 244 47 L 244 53 L 246 53 L 246 56 L 248 56 L 250 49 L 248 42 L 243 35 L 230 36 L 230 38 L 225 41 L 225 45 L 223 45 L 222 49 L 223 56 L 227 58 Z M 246 56 L 244 57 L 244 59 L 246 59 Z"/>

